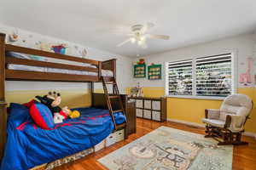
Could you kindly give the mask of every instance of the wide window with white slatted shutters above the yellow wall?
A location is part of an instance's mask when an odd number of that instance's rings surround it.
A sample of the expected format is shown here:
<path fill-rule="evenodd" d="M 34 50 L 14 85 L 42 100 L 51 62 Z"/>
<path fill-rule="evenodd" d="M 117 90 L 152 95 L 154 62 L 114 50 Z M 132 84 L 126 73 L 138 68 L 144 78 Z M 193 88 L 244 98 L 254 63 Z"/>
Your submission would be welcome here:
<path fill-rule="evenodd" d="M 232 94 L 232 54 L 168 62 L 168 95 L 225 97 Z"/>

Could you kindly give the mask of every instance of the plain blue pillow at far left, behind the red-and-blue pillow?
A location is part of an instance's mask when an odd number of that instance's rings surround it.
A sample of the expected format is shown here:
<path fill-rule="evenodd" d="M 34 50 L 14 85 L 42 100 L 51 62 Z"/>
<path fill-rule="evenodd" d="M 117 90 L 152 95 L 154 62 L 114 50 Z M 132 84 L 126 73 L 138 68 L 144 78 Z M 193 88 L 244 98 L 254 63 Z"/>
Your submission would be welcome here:
<path fill-rule="evenodd" d="M 25 105 L 11 103 L 9 105 L 8 124 L 16 128 L 23 122 L 32 122 L 29 109 Z"/>

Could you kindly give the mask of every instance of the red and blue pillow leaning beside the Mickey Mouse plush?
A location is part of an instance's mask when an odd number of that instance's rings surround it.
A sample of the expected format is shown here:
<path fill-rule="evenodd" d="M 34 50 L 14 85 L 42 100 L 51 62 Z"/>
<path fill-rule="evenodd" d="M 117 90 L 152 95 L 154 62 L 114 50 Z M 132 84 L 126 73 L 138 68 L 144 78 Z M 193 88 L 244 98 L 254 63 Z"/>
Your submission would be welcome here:
<path fill-rule="evenodd" d="M 33 101 L 29 108 L 29 114 L 38 127 L 49 130 L 55 126 L 51 111 L 44 104 Z"/>

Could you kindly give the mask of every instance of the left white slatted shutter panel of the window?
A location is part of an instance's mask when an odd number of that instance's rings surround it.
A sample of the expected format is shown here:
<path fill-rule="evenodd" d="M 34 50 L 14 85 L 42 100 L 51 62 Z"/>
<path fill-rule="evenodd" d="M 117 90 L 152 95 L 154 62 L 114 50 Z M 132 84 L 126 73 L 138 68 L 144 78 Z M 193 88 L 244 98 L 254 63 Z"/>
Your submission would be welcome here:
<path fill-rule="evenodd" d="M 168 94 L 192 95 L 192 59 L 168 63 Z"/>

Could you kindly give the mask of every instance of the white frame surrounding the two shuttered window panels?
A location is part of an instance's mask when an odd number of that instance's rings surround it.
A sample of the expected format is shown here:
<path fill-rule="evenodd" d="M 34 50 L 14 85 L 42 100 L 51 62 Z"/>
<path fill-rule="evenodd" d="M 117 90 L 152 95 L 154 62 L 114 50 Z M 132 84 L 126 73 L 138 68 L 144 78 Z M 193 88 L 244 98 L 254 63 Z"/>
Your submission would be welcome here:
<path fill-rule="evenodd" d="M 219 55 L 222 55 L 222 54 L 231 54 L 231 81 L 232 81 L 232 91 L 231 91 L 231 94 L 236 94 L 237 92 L 237 57 L 236 57 L 236 52 L 228 52 L 228 53 L 221 53 Z M 216 54 L 214 54 L 216 55 Z M 206 57 L 207 56 L 212 56 L 212 55 L 205 55 Z M 195 60 L 197 58 L 200 58 L 200 56 L 196 56 L 196 57 L 190 57 L 190 58 L 185 58 L 185 59 L 192 59 L 192 95 L 169 95 L 169 79 L 168 79 L 168 65 L 169 65 L 169 62 L 176 62 L 176 61 L 179 61 L 179 60 L 184 60 L 184 59 L 172 59 L 172 60 L 169 60 L 169 61 L 166 61 L 165 62 L 165 94 L 166 94 L 166 97 L 170 97 L 170 98 L 183 98 L 183 99 L 217 99 L 217 100 L 222 100 L 226 97 L 221 97 L 221 96 L 198 96 L 196 95 L 196 71 L 195 71 L 195 68 L 196 68 L 196 63 L 195 63 Z"/>

